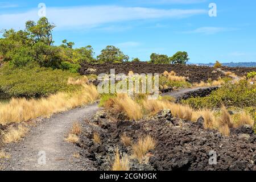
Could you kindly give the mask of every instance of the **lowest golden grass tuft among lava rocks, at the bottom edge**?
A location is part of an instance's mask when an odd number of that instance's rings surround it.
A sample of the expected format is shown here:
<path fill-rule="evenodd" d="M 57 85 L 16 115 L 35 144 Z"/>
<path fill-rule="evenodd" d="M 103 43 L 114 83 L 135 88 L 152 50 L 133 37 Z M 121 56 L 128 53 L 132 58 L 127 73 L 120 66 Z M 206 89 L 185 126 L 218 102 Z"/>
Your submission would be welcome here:
<path fill-rule="evenodd" d="M 119 150 L 118 148 L 115 148 L 115 159 L 114 163 L 112 165 L 112 171 L 129 171 L 130 166 L 129 166 L 129 159 L 128 156 L 125 155 L 124 157 L 119 155 Z"/>

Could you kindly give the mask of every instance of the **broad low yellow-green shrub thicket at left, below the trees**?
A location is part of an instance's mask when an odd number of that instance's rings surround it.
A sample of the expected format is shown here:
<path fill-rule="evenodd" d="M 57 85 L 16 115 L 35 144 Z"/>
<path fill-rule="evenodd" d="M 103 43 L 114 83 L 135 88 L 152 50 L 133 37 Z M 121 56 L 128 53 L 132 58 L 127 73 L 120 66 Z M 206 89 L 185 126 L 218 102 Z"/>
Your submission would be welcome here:
<path fill-rule="evenodd" d="M 0 69 L 0 97 L 38 98 L 79 89 L 79 86 L 67 85 L 69 77 L 80 75 L 52 68 L 15 68 L 5 64 Z"/>

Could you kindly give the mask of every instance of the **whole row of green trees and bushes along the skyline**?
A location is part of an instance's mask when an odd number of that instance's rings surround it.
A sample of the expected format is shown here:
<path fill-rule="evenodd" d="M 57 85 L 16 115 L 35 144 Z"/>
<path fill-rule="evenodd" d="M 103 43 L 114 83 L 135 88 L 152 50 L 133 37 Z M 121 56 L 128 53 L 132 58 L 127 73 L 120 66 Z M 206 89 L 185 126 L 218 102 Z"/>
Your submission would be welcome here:
<path fill-rule="evenodd" d="M 80 64 L 86 63 L 121 63 L 129 61 L 119 48 L 107 46 L 101 54 L 94 58 L 92 46 L 73 48 L 75 43 L 63 40 L 60 46 L 54 46 L 52 31 L 54 24 L 43 17 L 38 22 L 27 21 L 25 30 L 3 30 L 0 39 L 0 61 L 9 62 L 15 67 L 26 67 L 33 63 L 40 67 L 53 69 L 67 69 L 73 73 L 80 69 Z M 152 53 L 151 63 L 181 63 L 188 60 L 187 52 L 177 52 L 174 56 L 158 55 Z M 132 61 L 140 61 L 138 58 Z"/>

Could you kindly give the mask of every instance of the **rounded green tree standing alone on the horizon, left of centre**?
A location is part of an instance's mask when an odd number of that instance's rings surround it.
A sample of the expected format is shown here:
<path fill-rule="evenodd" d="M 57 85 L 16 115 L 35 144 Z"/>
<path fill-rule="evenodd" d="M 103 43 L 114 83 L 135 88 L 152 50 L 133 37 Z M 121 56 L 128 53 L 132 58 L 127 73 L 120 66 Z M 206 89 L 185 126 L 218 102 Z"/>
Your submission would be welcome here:
<path fill-rule="evenodd" d="M 128 61 L 129 56 L 125 55 L 119 48 L 114 46 L 107 46 L 101 51 L 101 54 L 97 56 L 99 63 L 122 63 Z"/>

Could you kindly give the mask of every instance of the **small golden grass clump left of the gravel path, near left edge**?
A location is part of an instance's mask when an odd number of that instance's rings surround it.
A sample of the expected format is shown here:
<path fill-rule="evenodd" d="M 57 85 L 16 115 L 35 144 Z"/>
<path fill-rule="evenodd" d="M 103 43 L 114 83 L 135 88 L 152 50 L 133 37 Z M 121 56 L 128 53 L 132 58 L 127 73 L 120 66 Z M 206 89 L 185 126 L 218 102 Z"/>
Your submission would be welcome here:
<path fill-rule="evenodd" d="M 3 131 L 3 143 L 11 143 L 11 142 L 18 142 L 22 137 L 26 135 L 28 129 L 26 126 L 19 125 L 16 129 L 13 126 L 10 126 L 7 131 Z"/>

